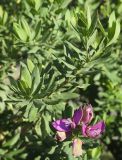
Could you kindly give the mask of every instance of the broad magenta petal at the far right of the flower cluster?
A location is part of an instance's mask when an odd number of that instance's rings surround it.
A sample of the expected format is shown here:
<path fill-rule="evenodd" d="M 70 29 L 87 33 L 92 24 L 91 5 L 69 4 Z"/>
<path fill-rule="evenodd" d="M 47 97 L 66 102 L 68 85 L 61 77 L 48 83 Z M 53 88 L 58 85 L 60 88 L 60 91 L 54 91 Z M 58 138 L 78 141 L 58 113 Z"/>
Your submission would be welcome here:
<path fill-rule="evenodd" d="M 86 129 L 86 134 L 90 138 L 98 138 L 101 133 L 105 130 L 105 123 L 104 121 L 100 121 L 93 126 L 89 126 Z"/>

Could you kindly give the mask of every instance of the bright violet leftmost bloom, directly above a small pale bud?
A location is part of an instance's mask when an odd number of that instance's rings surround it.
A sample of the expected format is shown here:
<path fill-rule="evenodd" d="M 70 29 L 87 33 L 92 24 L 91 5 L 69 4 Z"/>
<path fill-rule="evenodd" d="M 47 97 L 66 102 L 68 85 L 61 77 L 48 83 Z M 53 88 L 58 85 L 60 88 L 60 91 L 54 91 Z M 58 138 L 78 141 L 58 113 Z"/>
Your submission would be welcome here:
<path fill-rule="evenodd" d="M 72 124 L 71 119 L 61 119 L 52 122 L 53 127 L 57 131 L 61 132 L 69 132 L 71 130 L 71 124 Z"/>

